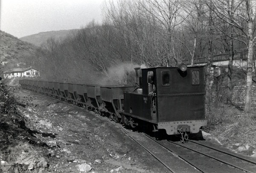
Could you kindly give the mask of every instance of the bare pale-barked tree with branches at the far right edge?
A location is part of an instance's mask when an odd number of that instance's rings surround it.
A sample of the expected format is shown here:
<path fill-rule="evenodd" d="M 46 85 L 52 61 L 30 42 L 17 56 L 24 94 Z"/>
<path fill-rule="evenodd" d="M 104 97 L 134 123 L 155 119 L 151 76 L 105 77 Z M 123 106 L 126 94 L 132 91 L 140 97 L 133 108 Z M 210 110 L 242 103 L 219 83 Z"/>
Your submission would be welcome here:
<path fill-rule="evenodd" d="M 253 36 L 256 29 L 256 1 L 241 0 L 235 1 L 235 3 L 236 8 L 233 8 L 232 11 L 232 8 L 227 8 L 229 3 L 226 3 L 226 1 L 211 0 L 211 9 L 221 20 L 224 20 L 241 32 L 242 39 L 232 38 L 243 42 L 248 49 L 244 110 L 245 112 L 249 112 L 252 92 L 253 46 L 256 44 L 256 37 Z M 239 10 L 236 10 L 237 8 Z M 226 15 L 227 13 L 230 15 Z"/>

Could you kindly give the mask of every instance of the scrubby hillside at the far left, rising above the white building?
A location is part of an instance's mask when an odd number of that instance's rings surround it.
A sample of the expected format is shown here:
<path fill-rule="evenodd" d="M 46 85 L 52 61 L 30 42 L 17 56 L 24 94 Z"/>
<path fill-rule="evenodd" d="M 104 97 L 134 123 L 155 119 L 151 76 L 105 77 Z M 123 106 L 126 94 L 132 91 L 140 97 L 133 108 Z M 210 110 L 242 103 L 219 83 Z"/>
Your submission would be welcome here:
<path fill-rule="evenodd" d="M 31 43 L 0 31 L 0 73 L 10 68 L 27 67 L 35 58 L 36 47 Z"/>

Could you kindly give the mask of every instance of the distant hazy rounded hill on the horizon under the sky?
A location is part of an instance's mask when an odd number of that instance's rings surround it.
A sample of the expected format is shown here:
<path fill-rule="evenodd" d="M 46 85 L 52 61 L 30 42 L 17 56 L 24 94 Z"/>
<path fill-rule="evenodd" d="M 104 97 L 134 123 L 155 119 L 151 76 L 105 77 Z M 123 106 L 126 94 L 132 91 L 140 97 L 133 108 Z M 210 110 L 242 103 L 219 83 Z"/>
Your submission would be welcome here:
<path fill-rule="evenodd" d="M 25 37 L 20 37 L 20 40 L 32 43 L 36 46 L 40 46 L 42 43 L 46 42 L 46 40 L 50 37 L 55 39 L 65 38 L 68 35 L 72 34 L 72 32 L 77 31 L 78 29 L 70 29 L 70 30 L 60 30 L 60 31 L 48 31 L 48 32 L 39 32 L 38 34 L 28 35 Z"/>

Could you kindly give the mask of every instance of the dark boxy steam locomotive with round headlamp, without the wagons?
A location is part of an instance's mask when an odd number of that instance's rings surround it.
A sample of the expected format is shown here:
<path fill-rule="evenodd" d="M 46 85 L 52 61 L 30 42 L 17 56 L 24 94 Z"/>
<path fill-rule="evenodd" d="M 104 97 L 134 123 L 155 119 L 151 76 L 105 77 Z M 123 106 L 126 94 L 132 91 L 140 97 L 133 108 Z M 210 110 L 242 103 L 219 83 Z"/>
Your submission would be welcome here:
<path fill-rule="evenodd" d="M 122 122 L 149 126 L 166 134 L 198 133 L 207 125 L 204 108 L 204 67 L 135 68 L 140 89 L 124 92 Z"/>

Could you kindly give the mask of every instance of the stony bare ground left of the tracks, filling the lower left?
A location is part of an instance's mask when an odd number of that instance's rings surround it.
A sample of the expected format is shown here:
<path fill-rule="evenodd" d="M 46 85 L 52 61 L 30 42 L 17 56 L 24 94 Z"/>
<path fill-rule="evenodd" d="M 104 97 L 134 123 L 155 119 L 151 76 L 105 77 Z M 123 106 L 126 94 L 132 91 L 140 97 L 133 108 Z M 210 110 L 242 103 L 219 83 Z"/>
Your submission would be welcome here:
<path fill-rule="evenodd" d="M 33 92 L 16 92 L 18 100 L 28 95 L 29 106 L 19 110 L 32 132 L 31 141 L 15 141 L 2 149 L 2 172 L 164 172 L 140 146 L 94 112 Z"/>

